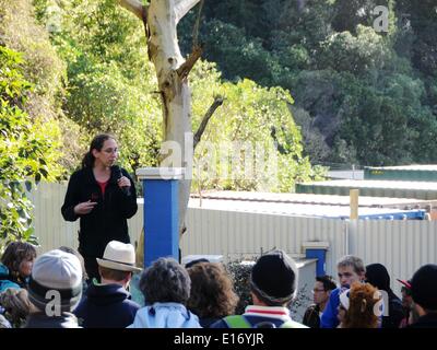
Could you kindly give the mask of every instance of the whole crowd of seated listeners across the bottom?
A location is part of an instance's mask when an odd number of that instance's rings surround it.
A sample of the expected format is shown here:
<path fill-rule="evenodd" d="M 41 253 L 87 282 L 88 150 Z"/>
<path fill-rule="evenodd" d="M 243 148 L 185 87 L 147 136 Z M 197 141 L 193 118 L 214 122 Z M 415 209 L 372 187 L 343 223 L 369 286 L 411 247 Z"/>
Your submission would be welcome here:
<path fill-rule="evenodd" d="M 381 264 L 355 256 L 336 265 L 338 281 L 319 276 L 314 304 L 292 319 L 298 291 L 296 262 L 283 250 L 260 256 L 250 273 L 251 304 L 235 315 L 238 295 L 221 262 L 182 266 L 163 257 L 135 266 L 131 244 L 110 241 L 96 258 L 98 278 L 82 256 L 60 247 L 36 257 L 25 242 L 10 243 L 0 264 L 2 328 L 420 328 L 437 327 L 437 265 L 422 266 L 402 283 L 402 300 Z M 133 273 L 144 304 L 131 300 Z"/>

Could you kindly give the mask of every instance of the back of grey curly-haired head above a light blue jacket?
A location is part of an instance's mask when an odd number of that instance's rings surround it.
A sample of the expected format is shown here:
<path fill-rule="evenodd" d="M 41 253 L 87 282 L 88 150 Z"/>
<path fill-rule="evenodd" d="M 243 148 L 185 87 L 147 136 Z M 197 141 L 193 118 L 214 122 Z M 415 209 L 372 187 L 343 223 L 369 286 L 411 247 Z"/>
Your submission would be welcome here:
<path fill-rule="evenodd" d="M 160 258 L 140 278 L 140 290 L 147 304 L 179 303 L 190 298 L 191 280 L 187 270 L 173 258 Z"/>

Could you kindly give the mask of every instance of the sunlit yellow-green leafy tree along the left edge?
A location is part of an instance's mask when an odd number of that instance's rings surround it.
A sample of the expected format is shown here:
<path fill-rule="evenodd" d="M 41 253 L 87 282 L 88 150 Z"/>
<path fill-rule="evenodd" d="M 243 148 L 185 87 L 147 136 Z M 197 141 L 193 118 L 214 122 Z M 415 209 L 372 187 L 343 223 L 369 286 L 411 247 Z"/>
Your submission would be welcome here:
<path fill-rule="evenodd" d="M 0 250 L 36 243 L 28 190 L 75 162 L 74 122 L 61 109 L 64 63 L 29 1 L 0 1 Z"/>

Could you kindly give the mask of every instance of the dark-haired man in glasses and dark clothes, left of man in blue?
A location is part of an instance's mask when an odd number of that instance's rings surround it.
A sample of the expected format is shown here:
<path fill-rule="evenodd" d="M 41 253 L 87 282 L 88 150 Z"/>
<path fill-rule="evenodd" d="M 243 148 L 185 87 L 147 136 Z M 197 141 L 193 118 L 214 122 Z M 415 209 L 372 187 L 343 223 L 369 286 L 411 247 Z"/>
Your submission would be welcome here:
<path fill-rule="evenodd" d="M 312 290 L 314 304 L 305 312 L 303 320 L 305 326 L 320 328 L 320 318 L 323 314 L 324 306 L 327 306 L 331 291 L 335 288 L 335 282 L 331 276 L 316 277 L 316 283 Z"/>

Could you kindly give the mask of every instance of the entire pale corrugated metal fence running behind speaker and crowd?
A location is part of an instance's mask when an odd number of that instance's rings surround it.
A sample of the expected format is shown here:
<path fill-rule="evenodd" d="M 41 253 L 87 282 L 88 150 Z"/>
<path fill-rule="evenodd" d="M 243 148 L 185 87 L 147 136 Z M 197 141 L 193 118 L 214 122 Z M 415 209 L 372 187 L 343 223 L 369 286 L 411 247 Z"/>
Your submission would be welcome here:
<path fill-rule="evenodd" d="M 61 245 L 76 248 L 78 222 L 66 222 L 60 213 L 66 184 L 44 184 L 31 195 L 35 205 L 35 234 L 39 252 Z M 142 231 L 142 205 L 129 220 L 132 242 Z M 306 241 L 329 242 L 327 271 L 335 275 L 335 262 L 345 254 L 365 264 L 381 262 L 394 278 L 406 279 L 422 265 L 437 262 L 437 221 L 364 220 L 346 222 L 249 212 L 189 208 L 188 231 L 181 240 L 184 255 L 220 254 L 226 260 L 251 257 L 274 247 L 304 254 Z M 392 283 L 399 291 L 399 283 Z"/>

